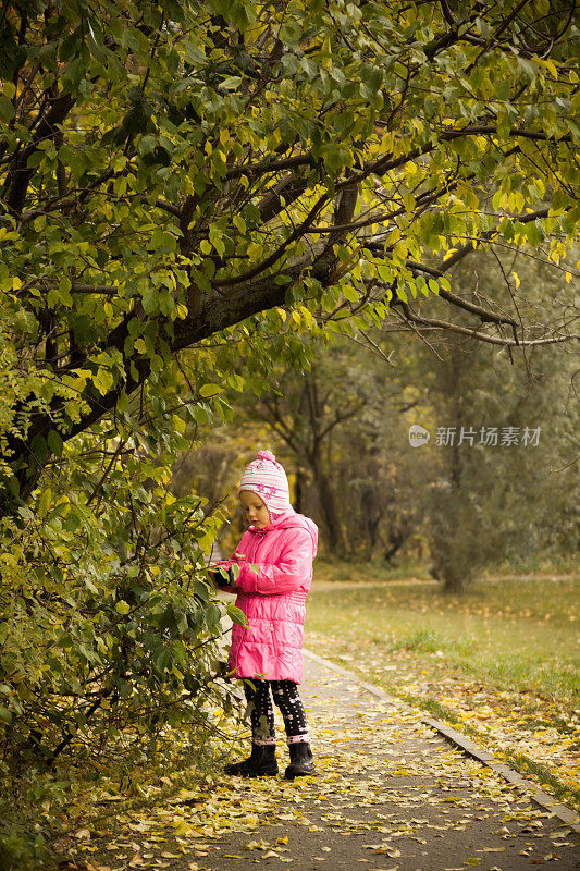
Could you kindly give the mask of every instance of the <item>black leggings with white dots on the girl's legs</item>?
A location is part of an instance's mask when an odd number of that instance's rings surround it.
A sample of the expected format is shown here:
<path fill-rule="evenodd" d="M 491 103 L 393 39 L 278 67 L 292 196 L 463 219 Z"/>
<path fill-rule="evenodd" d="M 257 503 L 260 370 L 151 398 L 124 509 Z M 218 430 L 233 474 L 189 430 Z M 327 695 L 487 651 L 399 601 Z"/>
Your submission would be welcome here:
<path fill-rule="evenodd" d="M 288 744 L 310 743 L 306 726 L 306 713 L 298 695 L 298 685 L 294 680 L 257 680 L 244 683 L 244 691 L 248 702 L 247 713 L 250 715 L 251 735 L 255 744 L 275 744 L 274 709 L 275 704 L 284 720 L 286 740 Z"/>

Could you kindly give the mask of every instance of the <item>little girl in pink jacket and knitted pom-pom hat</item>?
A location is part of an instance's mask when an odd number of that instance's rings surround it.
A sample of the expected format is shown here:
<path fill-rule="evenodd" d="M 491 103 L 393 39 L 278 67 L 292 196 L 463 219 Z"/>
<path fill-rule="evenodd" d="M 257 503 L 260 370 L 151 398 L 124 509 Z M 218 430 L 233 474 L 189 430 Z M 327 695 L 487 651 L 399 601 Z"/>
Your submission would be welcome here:
<path fill-rule="evenodd" d="M 249 464 L 238 496 L 250 526 L 233 557 L 219 564 L 229 580 L 224 582 L 217 572 L 212 576 L 221 589 L 237 593 L 236 605 L 248 622 L 232 628 L 230 667 L 246 678 L 252 748 L 248 759 L 226 765 L 225 772 L 243 777 L 277 774 L 272 692 L 289 748 L 285 776 L 293 780 L 314 773 L 298 684 L 318 529 L 292 507 L 286 473 L 270 451 L 260 451 Z"/>

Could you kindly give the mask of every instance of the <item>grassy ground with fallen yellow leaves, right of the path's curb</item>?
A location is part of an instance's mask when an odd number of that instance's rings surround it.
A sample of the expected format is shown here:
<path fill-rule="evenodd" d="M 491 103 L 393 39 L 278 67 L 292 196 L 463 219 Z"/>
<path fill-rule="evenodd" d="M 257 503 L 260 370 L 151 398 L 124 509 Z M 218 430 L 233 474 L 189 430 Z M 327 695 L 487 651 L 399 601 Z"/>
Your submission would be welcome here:
<path fill-rule="evenodd" d="M 580 576 L 494 577 L 449 597 L 418 576 L 346 573 L 317 568 L 307 646 L 580 806 Z"/>

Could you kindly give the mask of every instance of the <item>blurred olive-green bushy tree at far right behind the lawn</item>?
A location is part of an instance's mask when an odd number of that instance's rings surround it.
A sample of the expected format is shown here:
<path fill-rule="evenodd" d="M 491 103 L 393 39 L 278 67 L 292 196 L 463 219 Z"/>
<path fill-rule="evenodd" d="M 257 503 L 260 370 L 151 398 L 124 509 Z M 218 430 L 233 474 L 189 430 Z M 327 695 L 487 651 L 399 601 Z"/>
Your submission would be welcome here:
<path fill-rule="evenodd" d="M 506 263 L 480 255 L 471 266 L 455 274 L 465 293 L 481 287 L 484 277 L 485 293 L 497 294 Z M 573 307 L 573 292 L 557 272 L 511 266 L 538 283 L 529 310 L 546 293 L 568 296 Z M 506 557 L 572 553 L 580 456 L 575 355 L 535 347 L 523 366 L 461 335 L 431 331 L 429 342 L 436 357 L 423 359 L 423 383 L 432 440 L 439 432 L 442 444 L 430 445 L 437 462 L 419 492 L 429 494 L 425 532 L 444 589 L 464 591 L 486 565 Z"/>

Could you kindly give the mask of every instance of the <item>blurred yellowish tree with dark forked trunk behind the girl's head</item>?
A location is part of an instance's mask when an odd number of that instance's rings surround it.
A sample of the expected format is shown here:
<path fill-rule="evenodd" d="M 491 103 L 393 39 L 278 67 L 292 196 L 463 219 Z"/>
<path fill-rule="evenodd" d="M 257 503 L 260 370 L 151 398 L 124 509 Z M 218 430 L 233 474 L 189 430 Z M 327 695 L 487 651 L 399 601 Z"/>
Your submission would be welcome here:
<path fill-rule="evenodd" d="M 404 384 L 349 340 L 314 347 L 314 363 L 298 376 L 274 369 L 270 390 L 237 403 L 239 420 L 263 420 L 294 469 L 294 504 L 323 529 L 325 552 L 337 557 L 394 554 L 409 535 L 409 513 L 395 489 L 405 464 L 393 443 L 412 405 Z M 409 495 L 409 494 L 408 494 Z"/>

